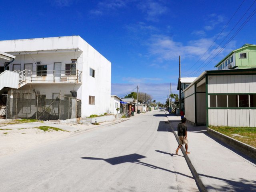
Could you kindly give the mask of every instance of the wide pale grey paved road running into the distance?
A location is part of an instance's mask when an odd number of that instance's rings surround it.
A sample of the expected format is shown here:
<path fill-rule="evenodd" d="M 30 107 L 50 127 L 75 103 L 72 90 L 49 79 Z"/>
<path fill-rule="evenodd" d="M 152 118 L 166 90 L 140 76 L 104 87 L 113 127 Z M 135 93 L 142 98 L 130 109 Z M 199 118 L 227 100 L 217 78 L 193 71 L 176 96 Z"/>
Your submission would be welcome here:
<path fill-rule="evenodd" d="M 198 191 L 166 121 L 148 112 L 3 157 L 1 191 Z"/>

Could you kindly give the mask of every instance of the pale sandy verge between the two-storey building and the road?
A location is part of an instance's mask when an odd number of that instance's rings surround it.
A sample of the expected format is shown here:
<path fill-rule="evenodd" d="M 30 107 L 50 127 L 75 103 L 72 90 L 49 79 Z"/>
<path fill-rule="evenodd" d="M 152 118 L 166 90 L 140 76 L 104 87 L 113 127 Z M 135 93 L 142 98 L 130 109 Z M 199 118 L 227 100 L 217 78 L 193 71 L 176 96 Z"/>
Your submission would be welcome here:
<path fill-rule="evenodd" d="M 100 125 L 85 125 L 85 124 L 68 124 L 58 122 L 32 122 L 32 123 L 20 123 L 14 125 L 4 125 L 12 120 L 0 119 L 0 158 L 8 156 L 14 153 L 18 153 L 23 150 L 29 150 L 42 146 L 51 141 L 59 140 L 77 134 L 104 126 L 107 124 L 118 123 L 126 120 L 114 120 L 112 122 L 101 122 Z M 63 131 L 50 131 L 44 132 L 36 127 L 38 126 L 51 126 L 61 128 L 69 132 Z M 2 130 L 10 129 L 10 130 Z"/>

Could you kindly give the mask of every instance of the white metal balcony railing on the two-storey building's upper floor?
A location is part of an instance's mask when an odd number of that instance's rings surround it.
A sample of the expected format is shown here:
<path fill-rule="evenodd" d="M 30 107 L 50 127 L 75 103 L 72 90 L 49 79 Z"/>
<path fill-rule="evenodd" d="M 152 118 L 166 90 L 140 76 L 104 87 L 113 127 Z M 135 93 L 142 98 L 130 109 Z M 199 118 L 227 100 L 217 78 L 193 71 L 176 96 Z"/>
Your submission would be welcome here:
<path fill-rule="evenodd" d="M 82 83 L 82 72 L 79 70 L 15 70 L 19 74 L 19 84 L 22 83 Z"/>

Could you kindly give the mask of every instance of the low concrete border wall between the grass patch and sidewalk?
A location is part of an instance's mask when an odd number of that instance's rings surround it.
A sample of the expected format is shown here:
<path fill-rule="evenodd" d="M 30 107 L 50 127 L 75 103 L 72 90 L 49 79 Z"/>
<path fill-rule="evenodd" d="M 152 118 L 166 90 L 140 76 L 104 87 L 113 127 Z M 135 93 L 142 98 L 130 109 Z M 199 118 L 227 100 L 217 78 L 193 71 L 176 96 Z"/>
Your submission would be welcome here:
<path fill-rule="evenodd" d="M 221 142 L 227 144 L 228 146 L 242 152 L 243 154 L 245 154 L 246 156 L 249 156 L 250 158 L 253 158 L 254 160 L 256 160 L 256 148 L 247 145 L 243 142 L 240 142 L 234 138 L 231 138 L 229 136 L 226 136 L 220 132 L 217 132 L 215 130 L 212 130 L 210 128 L 207 128 L 207 133 L 210 136 L 213 136 L 214 138 L 220 140 Z"/>

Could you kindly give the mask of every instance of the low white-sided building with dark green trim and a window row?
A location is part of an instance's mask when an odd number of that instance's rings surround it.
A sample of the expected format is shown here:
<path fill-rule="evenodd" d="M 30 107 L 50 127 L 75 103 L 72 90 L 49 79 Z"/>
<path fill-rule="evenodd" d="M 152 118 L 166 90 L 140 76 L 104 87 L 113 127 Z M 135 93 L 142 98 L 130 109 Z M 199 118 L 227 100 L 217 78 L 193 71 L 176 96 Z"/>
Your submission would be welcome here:
<path fill-rule="evenodd" d="M 184 90 L 188 121 L 256 126 L 256 68 L 203 72 Z"/>

